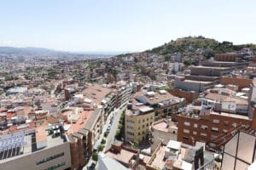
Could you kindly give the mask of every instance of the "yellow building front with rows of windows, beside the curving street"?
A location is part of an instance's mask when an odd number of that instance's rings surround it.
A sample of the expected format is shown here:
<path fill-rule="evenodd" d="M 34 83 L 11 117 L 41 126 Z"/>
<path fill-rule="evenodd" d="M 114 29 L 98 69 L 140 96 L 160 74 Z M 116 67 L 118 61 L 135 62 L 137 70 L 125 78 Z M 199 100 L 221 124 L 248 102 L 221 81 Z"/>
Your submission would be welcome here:
<path fill-rule="evenodd" d="M 149 127 L 154 122 L 154 109 L 143 106 L 137 111 L 125 112 L 125 140 L 141 142 L 148 139 Z"/>

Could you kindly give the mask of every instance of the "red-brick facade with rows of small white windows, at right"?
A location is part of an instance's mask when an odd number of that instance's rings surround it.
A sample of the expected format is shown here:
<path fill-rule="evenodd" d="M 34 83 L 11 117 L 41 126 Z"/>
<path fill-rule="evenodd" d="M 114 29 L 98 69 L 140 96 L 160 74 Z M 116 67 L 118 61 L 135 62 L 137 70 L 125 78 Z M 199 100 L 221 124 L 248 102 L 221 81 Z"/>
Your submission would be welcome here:
<path fill-rule="evenodd" d="M 180 113 L 172 118 L 178 122 L 178 141 L 184 144 L 205 142 L 209 148 L 219 148 L 230 138 L 234 130 L 249 130 L 253 123 L 247 116 L 210 110 L 201 111 L 201 115 Z"/>

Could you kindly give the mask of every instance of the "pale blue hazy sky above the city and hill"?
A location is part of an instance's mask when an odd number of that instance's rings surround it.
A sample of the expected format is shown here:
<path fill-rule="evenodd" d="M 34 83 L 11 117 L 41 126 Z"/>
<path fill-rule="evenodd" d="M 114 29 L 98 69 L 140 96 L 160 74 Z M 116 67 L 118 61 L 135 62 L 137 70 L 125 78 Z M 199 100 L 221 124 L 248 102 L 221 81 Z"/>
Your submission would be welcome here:
<path fill-rule="evenodd" d="M 255 0 L 1 0 L 0 46 L 136 52 L 178 37 L 256 43 Z"/>

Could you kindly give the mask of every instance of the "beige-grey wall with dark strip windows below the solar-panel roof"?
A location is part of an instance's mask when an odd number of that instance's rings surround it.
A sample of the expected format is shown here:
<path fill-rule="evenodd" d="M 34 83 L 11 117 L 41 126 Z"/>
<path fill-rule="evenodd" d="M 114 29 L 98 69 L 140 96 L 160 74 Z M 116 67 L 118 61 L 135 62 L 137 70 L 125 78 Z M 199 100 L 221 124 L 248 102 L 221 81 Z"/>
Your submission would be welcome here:
<path fill-rule="evenodd" d="M 42 161 L 50 156 L 55 156 L 64 152 L 64 156 L 57 157 L 53 160 L 46 161 L 42 164 L 37 165 L 36 162 Z M 38 170 L 47 169 L 49 167 L 61 164 L 65 162 L 64 166 L 56 168 L 56 170 L 66 169 L 71 167 L 70 159 L 70 146 L 69 143 L 59 144 L 55 147 L 50 147 L 44 150 L 38 150 L 29 155 L 13 157 L 4 163 L 0 164 L 1 170 L 19 169 L 19 170 Z"/>

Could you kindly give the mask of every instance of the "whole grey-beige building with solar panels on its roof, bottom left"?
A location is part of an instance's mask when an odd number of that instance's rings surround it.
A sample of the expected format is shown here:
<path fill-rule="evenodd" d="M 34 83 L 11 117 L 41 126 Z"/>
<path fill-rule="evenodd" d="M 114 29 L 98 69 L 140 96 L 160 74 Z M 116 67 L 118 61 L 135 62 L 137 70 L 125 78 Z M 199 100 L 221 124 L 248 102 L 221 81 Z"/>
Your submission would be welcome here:
<path fill-rule="evenodd" d="M 9 133 L 0 139 L 0 169 L 67 169 L 70 146 L 61 124 Z"/>

